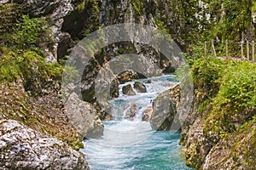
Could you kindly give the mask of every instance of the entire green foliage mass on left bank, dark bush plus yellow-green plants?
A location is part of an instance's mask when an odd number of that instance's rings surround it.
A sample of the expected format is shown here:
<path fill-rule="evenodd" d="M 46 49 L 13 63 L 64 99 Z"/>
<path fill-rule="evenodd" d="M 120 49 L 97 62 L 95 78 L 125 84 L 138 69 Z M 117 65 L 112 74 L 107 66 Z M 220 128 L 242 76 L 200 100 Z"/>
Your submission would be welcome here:
<path fill-rule="evenodd" d="M 10 8 L 16 8 L 10 6 Z M 40 18 L 22 15 L 20 20 L 12 23 L 11 31 L 5 31 L 0 44 L 0 82 L 23 80 L 28 87 L 42 91 L 44 83 L 49 80 L 61 80 L 63 66 L 48 64 L 44 59 L 44 49 L 50 44 L 49 26 Z M 9 48 L 6 48 L 9 47 Z"/>

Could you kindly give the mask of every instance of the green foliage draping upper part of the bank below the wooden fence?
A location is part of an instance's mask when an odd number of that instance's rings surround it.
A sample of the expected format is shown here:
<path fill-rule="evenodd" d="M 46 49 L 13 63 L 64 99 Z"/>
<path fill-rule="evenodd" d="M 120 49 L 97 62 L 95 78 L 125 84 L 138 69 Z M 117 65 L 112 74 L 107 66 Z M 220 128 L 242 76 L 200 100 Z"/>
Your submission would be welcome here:
<path fill-rule="evenodd" d="M 218 133 L 222 139 L 254 119 L 255 64 L 202 57 L 195 61 L 192 71 L 197 95 L 202 96 L 198 110 L 207 119 L 205 133 Z"/>

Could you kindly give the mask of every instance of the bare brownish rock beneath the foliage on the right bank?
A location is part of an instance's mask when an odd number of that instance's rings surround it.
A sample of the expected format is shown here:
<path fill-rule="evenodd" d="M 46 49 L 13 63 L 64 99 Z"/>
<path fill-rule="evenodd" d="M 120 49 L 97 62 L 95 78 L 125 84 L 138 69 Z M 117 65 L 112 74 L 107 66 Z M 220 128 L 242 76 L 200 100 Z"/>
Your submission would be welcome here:
<path fill-rule="evenodd" d="M 198 111 L 199 97 L 194 98 L 194 104 L 182 127 L 180 142 L 185 148 L 187 165 L 204 170 L 252 169 L 256 157 L 255 130 L 252 130 L 255 129 L 255 122 L 247 122 L 247 126 L 238 127 L 234 133 L 221 136 L 214 119 L 207 120 L 209 111 Z M 245 111 L 244 114 L 229 118 L 236 120 L 233 124 L 235 127 L 238 120 L 241 122 L 250 114 L 255 114 L 255 111 Z"/>

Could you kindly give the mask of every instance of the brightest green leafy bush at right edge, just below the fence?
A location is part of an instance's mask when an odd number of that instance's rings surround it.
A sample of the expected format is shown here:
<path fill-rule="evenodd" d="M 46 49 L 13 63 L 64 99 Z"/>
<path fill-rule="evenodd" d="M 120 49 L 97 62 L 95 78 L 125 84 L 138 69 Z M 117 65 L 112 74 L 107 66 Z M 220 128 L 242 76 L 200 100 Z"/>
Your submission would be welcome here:
<path fill-rule="evenodd" d="M 256 105 L 256 65 L 242 61 L 232 61 L 225 67 L 215 102 L 229 105 L 232 110 Z"/>

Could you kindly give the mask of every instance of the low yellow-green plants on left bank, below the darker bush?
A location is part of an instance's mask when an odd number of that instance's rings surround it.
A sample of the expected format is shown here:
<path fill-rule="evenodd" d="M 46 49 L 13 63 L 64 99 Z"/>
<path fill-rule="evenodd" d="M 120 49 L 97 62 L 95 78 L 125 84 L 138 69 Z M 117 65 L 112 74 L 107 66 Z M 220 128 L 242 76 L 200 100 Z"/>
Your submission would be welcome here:
<path fill-rule="evenodd" d="M 0 82 L 14 82 L 18 77 L 25 83 L 34 77 L 44 81 L 49 78 L 61 80 L 62 70 L 62 65 L 45 63 L 44 57 L 32 50 L 0 56 Z"/>

